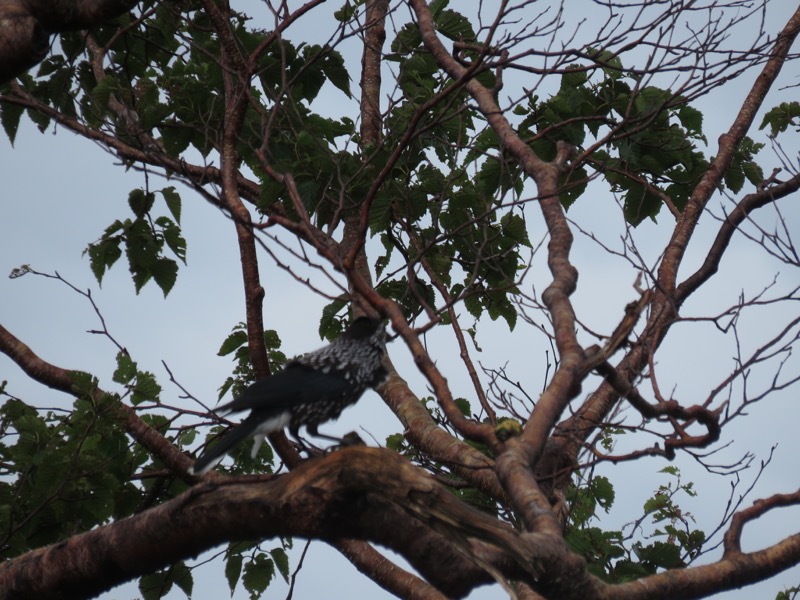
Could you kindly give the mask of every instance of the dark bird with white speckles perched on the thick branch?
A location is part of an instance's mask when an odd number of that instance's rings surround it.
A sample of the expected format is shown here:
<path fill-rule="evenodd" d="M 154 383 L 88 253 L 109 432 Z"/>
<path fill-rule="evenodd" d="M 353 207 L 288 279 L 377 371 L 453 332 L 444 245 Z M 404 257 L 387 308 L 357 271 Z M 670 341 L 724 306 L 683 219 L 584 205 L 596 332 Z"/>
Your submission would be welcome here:
<path fill-rule="evenodd" d="M 344 333 L 327 346 L 304 354 L 286 367 L 250 385 L 238 398 L 214 409 L 228 414 L 249 410 L 250 414 L 206 449 L 189 469 L 202 475 L 213 469 L 238 443 L 255 438 L 251 456 L 255 458 L 267 434 L 289 428 L 298 432 L 341 442 L 321 434 L 317 427 L 339 417 L 367 388 L 379 387 L 388 376 L 383 365 L 386 329 L 380 319 L 358 317 Z M 300 441 L 302 445 L 302 441 Z"/>

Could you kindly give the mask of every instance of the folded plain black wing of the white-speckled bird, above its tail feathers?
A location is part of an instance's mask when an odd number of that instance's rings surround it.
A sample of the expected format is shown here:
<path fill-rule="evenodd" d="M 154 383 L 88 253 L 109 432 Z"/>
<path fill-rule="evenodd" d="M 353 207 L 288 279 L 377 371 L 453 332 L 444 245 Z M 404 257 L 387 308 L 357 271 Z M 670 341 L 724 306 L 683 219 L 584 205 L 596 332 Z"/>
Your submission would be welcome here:
<path fill-rule="evenodd" d="M 350 385 L 342 373 L 323 373 L 292 363 L 280 373 L 259 379 L 236 400 L 220 406 L 215 412 L 257 409 L 259 412 L 278 413 L 299 403 L 338 398 L 347 392 Z"/>

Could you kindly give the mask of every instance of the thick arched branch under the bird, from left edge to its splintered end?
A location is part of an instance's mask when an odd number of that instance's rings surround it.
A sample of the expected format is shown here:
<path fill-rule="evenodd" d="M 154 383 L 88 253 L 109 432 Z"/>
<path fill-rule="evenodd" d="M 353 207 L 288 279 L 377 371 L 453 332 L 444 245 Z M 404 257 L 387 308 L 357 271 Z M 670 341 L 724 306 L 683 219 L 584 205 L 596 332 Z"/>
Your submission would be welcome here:
<path fill-rule="evenodd" d="M 516 557 L 515 574 L 524 573 L 519 563 L 531 549 L 520 549 L 513 529 L 463 504 L 400 456 L 359 447 L 266 482 L 200 484 L 144 513 L 6 561 L 0 588 L 9 599 L 86 597 L 226 541 L 279 535 L 372 539 L 408 555 L 448 597 L 486 582 L 428 527 L 490 538 Z M 477 551 L 498 559 L 488 548 Z"/>

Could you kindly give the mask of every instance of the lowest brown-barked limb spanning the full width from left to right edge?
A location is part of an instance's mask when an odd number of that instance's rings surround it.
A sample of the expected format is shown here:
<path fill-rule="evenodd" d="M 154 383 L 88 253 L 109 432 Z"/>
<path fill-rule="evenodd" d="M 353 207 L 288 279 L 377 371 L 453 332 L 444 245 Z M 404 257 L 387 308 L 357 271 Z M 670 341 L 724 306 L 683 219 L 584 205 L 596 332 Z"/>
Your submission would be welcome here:
<path fill-rule="evenodd" d="M 797 502 L 797 494 L 764 501 L 738 520 Z M 224 542 L 276 536 L 334 543 L 347 536 L 392 548 L 439 591 L 406 573 L 384 571 L 392 576 L 391 589 L 415 598 L 461 597 L 489 581 L 486 569 L 524 582 L 545 598 L 697 598 L 800 560 L 795 535 L 758 552 L 732 552 L 711 565 L 603 584 L 551 536 L 520 534 L 459 501 L 392 452 L 354 447 L 267 480 L 204 482 L 143 513 L 8 560 L 0 566 L 0 589 L 4 600 L 87 597 Z"/>

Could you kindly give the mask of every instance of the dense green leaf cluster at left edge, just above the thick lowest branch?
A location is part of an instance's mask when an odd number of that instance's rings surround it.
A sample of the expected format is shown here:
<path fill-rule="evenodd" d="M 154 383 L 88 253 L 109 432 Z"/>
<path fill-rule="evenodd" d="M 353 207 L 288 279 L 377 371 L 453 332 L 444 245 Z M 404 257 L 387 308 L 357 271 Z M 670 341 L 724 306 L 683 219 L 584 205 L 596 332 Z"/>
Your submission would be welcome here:
<path fill-rule="evenodd" d="M 88 387 L 91 378 L 76 374 Z M 72 410 L 0 406 L 0 552 L 11 558 L 132 514 L 141 506 L 132 450 L 113 396 L 81 396 Z"/>

